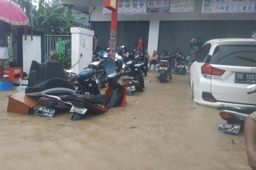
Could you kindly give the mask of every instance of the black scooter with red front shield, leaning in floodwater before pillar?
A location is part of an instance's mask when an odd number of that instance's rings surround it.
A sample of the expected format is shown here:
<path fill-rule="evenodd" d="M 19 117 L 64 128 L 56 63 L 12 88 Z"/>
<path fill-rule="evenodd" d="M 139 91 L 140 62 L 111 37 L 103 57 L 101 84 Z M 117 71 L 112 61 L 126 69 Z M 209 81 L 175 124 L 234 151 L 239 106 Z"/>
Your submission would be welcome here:
<path fill-rule="evenodd" d="M 108 112 L 111 107 L 125 105 L 126 89 L 124 86 L 118 83 L 118 79 L 126 72 L 112 73 L 101 82 L 108 83 L 108 89 L 105 95 L 79 95 L 75 94 L 72 100 L 72 108 L 70 112 L 73 112 L 72 120 L 80 120 L 91 114 L 102 114 Z"/>

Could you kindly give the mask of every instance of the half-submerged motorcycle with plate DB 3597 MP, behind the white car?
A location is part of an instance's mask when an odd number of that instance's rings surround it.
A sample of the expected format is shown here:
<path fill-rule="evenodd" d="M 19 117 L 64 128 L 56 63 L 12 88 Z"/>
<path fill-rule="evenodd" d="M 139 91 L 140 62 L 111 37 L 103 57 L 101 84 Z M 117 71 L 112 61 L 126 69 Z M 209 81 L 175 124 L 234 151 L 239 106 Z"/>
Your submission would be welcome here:
<path fill-rule="evenodd" d="M 256 87 L 256 84 L 247 86 L 247 89 Z M 247 94 L 255 93 L 256 90 L 249 91 Z M 219 123 L 218 130 L 225 133 L 235 133 L 238 134 L 239 130 L 244 129 L 244 121 L 247 116 L 256 111 L 255 107 L 229 107 L 222 106 L 222 112 L 219 113 L 223 120 L 227 123 Z"/>

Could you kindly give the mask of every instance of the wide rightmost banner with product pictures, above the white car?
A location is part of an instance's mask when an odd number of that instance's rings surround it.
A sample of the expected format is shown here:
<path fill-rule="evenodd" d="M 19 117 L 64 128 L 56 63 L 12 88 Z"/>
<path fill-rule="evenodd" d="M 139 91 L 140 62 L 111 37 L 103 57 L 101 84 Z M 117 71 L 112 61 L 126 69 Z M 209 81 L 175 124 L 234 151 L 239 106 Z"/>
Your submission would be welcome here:
<path fill-rule="evenodd" d="M 202 13 L 256 12 L 256 0 L 203 0 Z"/>

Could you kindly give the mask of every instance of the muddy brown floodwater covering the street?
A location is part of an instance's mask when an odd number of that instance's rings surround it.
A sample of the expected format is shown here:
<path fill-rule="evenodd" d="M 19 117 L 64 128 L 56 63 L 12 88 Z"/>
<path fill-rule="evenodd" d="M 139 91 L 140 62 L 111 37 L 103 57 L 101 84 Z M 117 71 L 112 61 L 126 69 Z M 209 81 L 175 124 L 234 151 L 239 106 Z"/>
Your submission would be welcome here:
<path fill-rule="evenodd" d="M 125 107 L 79 121 L 6 113 L 15 90 L 0 92 L 0 169 L 250 169 L 243 132 L 217 130 L 220 110 L 191 100 L 188 73 L 160 83 L 151 70 Z"/>

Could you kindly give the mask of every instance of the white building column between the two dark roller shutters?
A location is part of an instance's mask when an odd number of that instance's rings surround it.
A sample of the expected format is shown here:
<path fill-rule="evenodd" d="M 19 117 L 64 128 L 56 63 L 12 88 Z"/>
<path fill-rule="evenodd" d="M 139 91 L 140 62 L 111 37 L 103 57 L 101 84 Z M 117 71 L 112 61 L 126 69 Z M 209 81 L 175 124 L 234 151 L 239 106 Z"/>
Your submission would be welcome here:
<path fill-rule="evenodd" d="M 150 18 L 150 26 L 148 31 L 148 55 L 152 55 L 154 50 L 157 50 L 159 34 L 159 19 L 157 17 Z M 160 55 L 158 51 L 158 55 Z"/>

